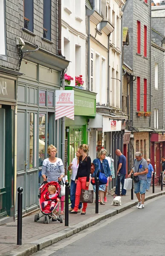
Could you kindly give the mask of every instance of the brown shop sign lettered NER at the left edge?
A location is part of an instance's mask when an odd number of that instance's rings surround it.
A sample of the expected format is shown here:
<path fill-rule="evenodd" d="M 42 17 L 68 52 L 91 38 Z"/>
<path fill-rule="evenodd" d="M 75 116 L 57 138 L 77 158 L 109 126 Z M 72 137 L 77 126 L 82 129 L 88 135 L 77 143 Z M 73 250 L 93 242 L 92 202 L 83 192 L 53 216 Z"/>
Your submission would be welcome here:
<path fill-rule="evenodd" d="M 0 77 L 0 99 L 15 101 L 15 81 Z"/>

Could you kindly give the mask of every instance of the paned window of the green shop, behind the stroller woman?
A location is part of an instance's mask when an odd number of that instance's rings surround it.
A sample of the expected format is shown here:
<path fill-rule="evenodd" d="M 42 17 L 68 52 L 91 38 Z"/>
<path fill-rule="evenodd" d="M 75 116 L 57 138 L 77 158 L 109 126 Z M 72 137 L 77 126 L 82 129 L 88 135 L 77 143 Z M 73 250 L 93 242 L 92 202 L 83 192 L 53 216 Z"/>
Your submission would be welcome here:
<path fill-rule="evenodd" d="M 69 163 L 72 162 L 81 144 L 84 143 L 84 128 L 69 129 Z"/>

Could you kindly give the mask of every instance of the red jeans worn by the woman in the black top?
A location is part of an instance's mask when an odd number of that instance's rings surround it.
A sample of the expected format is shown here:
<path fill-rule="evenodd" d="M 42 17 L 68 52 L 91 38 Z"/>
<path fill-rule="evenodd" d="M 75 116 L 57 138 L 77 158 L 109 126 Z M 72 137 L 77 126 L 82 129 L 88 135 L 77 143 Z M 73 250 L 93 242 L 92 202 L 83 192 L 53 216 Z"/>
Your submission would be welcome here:
<path fill-rule="evenodd" d="M 75 207 L 74 211 L 78 211 L 78 206 L 80 203 L 80 195 L 81 195 L 81 189 L 88 189 L 86 186 L 87 177 L 79 177 L 76 185 L 76 191 L 75 191 Z M 90 181 L 89 181 L 90 182 Z M 83 203 L 82 211 L 86 212 L 87 203 Z"/>

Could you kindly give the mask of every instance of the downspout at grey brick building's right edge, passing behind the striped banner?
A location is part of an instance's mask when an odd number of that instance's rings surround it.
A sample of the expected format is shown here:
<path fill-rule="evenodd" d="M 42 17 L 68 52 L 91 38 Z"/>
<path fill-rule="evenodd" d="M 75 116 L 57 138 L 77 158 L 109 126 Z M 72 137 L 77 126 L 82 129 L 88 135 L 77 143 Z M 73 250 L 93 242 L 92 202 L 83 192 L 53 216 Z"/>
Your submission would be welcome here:
<path fill-rule="evenodd" d="M 58 0 L 58 55 L 63 57 L 61 52 L 61 0 Z M 61 72 L 62 89 L 65 90 L 64 70 Z M 65 163 L 65 117 L 61 118 L 61 159 Z"/>

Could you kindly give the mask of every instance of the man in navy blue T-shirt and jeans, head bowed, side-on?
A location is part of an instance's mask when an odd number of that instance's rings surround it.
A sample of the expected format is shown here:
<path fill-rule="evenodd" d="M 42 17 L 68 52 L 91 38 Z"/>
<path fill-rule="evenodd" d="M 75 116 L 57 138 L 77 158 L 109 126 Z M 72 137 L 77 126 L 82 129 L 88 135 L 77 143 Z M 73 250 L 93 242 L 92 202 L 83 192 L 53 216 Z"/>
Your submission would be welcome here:
<path fill-rule="evenodd" d="M 127 190 L 123 189 L 124 187 L 124 180 L 126 175 L 126 157 L 122 154 L 122 152 L 119 149 L 116 149 L 115 151 L 116 156 L 119 157 L 118 163 L 117 163 L 117 176 L 120 175 L 120 182 L 122 183 L 122 194 L 120 195 L 126 195 Z M 118 194 L 118 177 L 116 179 L 116 189 L 115 189 L 115 195 Z"/>

